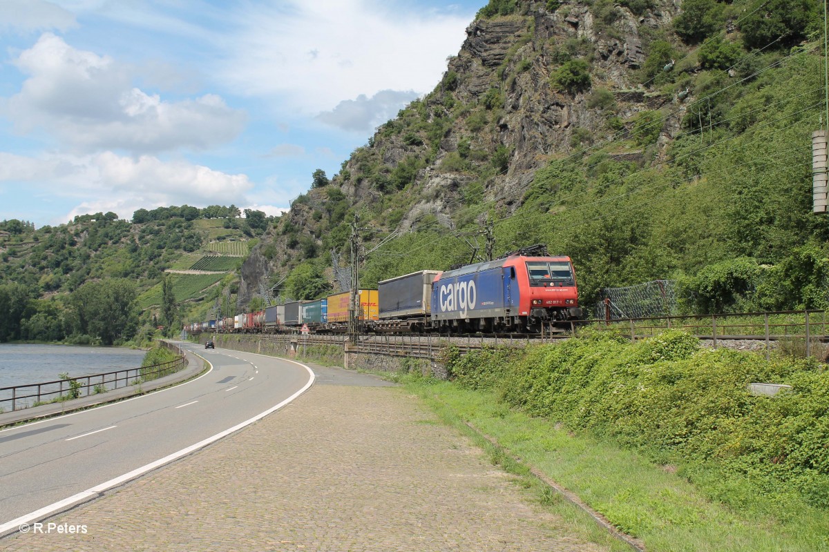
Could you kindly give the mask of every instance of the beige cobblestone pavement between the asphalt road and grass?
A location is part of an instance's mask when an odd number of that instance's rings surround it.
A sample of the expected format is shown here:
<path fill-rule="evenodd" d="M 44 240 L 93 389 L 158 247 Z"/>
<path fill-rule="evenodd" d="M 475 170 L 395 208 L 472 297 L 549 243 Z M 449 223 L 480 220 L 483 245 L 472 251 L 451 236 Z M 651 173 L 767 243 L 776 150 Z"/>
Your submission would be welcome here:
<path fill-rule="evenodd" d="M 313 386 L 237 434 L 0 550 L 604 550 L 392 387 Z"/>

